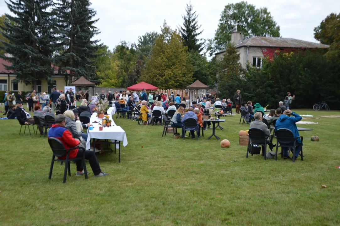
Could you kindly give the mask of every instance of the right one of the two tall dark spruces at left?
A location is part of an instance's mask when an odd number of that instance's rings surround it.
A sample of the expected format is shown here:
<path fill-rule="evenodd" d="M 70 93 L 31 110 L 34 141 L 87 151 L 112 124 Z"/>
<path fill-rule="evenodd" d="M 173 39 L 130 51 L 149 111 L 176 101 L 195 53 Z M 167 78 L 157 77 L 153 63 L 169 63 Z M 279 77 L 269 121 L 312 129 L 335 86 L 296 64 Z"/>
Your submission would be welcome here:
<path fill-rule="evenodd" d="M 81 76 L 99 82 L 94 63 L 102 44 L 98 44 L 100 40 L 92 40 L 100 32 L 94 25 L 98 21 L 93 19 L 96 11 L 90 6 L 89 0 L 59 0 L 54 10 L 63 47 L 56 62 L 61 68 L 70 70 L 66 75 L 69 83 Z"/>

